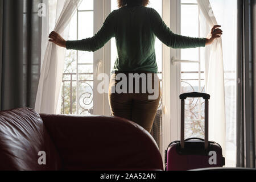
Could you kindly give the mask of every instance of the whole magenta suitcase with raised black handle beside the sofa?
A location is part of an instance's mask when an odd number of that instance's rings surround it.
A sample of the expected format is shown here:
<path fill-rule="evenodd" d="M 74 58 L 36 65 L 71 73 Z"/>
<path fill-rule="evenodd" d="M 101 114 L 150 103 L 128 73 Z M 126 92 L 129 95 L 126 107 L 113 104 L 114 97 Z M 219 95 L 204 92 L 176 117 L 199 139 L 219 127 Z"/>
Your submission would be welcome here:
<path fill-rule="evenodd" d="M 199 98 L 205 100 L 205 139 L 188 138 L 184 140 L 185 123 L 185 99 Z M 223 167 L 225 158 L 222 155 L 222 148 L 216 142 L 208 142 L 208 108 L 209 94 L 185 93 L 180 95 L 181 100 L 181 140 L 170 143 L 166 150 L 166 170 L 186 171 L 190 169 Z M 217 132 L 217 131 L 216 131 Z"/>

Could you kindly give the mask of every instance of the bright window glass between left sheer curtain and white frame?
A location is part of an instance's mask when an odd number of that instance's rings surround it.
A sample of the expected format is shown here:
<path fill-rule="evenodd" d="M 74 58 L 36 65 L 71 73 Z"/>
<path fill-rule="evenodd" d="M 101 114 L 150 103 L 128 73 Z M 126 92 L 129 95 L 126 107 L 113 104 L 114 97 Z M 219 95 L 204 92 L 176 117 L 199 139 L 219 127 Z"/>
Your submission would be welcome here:
<path fill-rule="evenodd" d="M 93 36 L 93 25 L 93 0 L 82 1 L 71 20 L 69 40 Z M 93 52 L 67 50 L 61 97 L 61 113 L 92 114 Z"/>

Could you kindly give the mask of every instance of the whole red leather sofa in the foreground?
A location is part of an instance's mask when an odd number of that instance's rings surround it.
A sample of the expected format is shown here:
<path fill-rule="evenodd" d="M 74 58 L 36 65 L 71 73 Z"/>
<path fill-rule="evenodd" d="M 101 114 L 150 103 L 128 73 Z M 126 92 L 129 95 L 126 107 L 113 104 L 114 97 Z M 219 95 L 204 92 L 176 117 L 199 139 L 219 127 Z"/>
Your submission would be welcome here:
<path fill-rule="evenodd" d="M 154 139 L 134 122 L 23 107 L 0 112 L 0 170 L 163 170 L 163 163 Z"/>

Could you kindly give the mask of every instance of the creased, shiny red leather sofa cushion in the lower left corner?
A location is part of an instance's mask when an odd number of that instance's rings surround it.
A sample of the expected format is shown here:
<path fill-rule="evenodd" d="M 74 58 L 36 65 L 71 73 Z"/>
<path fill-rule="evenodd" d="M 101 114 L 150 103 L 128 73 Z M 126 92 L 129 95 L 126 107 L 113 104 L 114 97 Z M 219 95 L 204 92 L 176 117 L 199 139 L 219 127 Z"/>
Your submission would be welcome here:
<path fill-rule="evenodd" d="M 42 164 L 44 156 L 46 164 Z M 60 169 L 59 154 L 34 110 L 0 112 L 0 161 L 0 170 Z"/>

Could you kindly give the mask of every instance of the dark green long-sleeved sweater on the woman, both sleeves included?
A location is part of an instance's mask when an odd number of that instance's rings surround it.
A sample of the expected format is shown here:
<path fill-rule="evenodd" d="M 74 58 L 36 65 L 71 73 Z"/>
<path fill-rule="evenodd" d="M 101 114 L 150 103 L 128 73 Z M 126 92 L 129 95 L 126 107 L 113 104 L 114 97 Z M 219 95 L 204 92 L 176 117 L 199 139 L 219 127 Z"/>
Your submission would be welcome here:
<path fill-rule="evenodd" d="M 100 31 L 92 38 L 67 41 L 67 49 L 97 51 L 115 37 L 118 56 L 113 72 L 158 72 L 155 37 L 172 48 L 204 47 L 205 38 L 174 34 L 158 12 L 142 5 L 121 7 L 112 11 Z"/>

